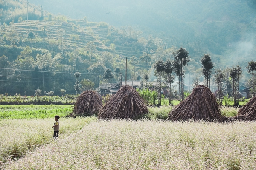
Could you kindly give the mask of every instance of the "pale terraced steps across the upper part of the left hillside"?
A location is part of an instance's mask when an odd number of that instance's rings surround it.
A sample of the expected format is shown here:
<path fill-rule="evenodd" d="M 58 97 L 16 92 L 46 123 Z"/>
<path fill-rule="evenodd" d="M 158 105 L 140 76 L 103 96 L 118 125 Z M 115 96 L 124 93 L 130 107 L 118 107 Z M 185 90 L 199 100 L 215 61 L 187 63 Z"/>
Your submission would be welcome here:
<path fill-rule="evenodd" d="M 123 55 L 131 57 L 133 55 L 139 56 L 142 51 L 133 49 L 134 47 L 124 44 L 115 44 L 115 50 L 109 48 L 110 43 L 115 43 L 118 40 L 125 39 L 119 33 L 119 30 L 100 23 L 86 23 L 83 20 L 77 20 L 77 25 L 74 23 L 54 22 L 54 21 L 23 21 L 21 23 L 14 23 L 6 29 L 0 31 L 0 36 L 11 34 L 17 31 L 19 38 L 18 46 L 30 46 L 33 48 L 47 49 L 49 51 L 56 51 L 58 49 L 58 41 L 63 38 L 66 50 L 71 51 L 74 48 L 84 48 L 90 41 L 97 46 L 99 54 L 102 51 L 109 51 L 112 54 Z M 63 36 L 58 32 L 64 30 Z M 29 40 L 27 34 L 32 31 L 35 34 L 35 39 Z M 110 35 L 111 33 L 111 35 Z M 112 39 L 112 42 L 111 40 Z M 104 42 L 106 42 L 104 44 Z M 127 41 L 127 40 L 122 40 Z M 133 40 L 136 43 L 137 40 Z"/>

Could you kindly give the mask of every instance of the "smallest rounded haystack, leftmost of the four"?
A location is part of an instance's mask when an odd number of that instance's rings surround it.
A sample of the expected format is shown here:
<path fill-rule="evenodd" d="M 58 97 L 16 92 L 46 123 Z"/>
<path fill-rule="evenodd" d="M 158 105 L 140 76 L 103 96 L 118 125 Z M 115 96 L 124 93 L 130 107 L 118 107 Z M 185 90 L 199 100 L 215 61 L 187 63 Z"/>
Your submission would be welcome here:
<path fill-rule="evenodd" d="M 102 107 L 102 96 L 96 91 L 83 91 L 76 99 L 73 113 L 78 116 L 97 114 Z"/>

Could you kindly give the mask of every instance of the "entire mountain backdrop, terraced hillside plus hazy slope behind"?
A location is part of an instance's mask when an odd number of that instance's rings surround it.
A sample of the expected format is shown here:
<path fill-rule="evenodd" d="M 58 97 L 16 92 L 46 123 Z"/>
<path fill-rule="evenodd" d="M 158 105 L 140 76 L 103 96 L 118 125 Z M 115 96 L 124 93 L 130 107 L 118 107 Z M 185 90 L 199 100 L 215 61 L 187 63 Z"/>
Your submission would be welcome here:
<path fill-rule="evenodd" d="M 256 54 L 253 0 L 30 0 L 28 16 L 26 2 L 0 1 L 0 94 L 74 94 L 75 72 L 82 88 L 96 88 L 106 68 L 118 82 L 126 57 L 128 79 L 139 80 L 181 46 L 187 73 L 201 72 L 206 53 L 216 68 L 245 67 Z"/>

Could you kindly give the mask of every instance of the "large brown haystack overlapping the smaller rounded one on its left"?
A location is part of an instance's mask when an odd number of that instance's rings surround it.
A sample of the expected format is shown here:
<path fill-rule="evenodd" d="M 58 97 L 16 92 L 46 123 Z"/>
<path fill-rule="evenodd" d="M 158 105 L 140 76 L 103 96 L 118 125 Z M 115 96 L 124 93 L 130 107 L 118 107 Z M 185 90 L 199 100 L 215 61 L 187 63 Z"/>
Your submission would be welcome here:
<path fill-rule="evenodd" d="M 147 114 L 148 108 L 139 93 L 129 85 L 122 86 L 100 109 L 100 119 L 137 119 Z"/>

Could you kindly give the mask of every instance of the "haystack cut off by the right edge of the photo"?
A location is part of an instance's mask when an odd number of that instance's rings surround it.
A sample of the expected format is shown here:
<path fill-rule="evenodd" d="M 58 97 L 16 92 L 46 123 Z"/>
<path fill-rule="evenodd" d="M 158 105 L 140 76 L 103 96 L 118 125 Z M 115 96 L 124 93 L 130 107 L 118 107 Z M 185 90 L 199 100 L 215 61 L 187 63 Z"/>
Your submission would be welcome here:
<path fill-rule="evenodd" d="M 255 120 L 256 119 L 256 96 L 251 98 L 243 107 L 238 111 L 235 119 L 242 120 Z"/>

